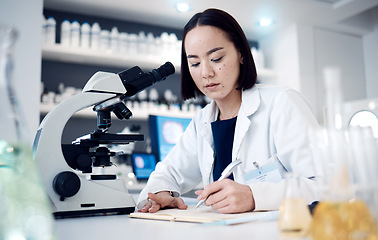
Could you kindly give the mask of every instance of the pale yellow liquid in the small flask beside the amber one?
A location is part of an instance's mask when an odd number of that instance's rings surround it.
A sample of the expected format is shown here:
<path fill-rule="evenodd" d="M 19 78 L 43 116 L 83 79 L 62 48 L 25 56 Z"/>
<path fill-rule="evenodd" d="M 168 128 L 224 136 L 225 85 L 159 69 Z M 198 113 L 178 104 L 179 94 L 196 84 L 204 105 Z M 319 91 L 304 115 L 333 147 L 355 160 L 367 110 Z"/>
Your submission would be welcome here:
<path fill-rule="evenodd" d="M 286 238 L 306 237 L 310 224 L 310 210 L 303 198 L 283 199 L 278 220 L 281 236 Z"/>

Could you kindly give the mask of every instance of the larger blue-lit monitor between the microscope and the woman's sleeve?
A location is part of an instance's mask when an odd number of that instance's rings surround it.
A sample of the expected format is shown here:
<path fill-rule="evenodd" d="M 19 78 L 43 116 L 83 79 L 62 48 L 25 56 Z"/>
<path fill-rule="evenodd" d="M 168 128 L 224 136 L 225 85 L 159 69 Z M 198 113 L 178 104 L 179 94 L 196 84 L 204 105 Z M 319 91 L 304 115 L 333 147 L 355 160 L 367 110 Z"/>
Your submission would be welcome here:
<path fill-rule="evenodd" d="M 176 145 L 191 119 L 166 116 L 149 116 L 151 150 L 162 161 Z"/>

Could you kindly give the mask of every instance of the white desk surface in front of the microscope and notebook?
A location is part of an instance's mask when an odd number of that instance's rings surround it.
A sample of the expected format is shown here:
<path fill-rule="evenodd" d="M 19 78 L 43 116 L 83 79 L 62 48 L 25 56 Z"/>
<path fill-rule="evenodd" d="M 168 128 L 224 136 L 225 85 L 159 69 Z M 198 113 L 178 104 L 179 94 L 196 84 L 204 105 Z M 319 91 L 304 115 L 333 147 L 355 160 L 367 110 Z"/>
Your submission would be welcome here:
<path fill-rule="evenodd" d="M 196 201 L 184 199 L 187 204 Z M 203 226 L 197 223 L 133 219 L 128 215 L 96 216 L 56 220 L 58 240 L 84 239 L 280 239 L 277 221 L 233 226 Z"/>

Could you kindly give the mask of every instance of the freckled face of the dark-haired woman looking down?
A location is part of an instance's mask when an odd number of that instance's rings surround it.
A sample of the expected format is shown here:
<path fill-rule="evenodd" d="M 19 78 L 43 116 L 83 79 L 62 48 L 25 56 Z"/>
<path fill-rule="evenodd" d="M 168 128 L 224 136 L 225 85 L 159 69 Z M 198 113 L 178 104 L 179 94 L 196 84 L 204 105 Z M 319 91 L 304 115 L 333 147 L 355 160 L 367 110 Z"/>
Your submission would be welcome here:
<path fill-rule="evenodd" d="M 240 96 L 236 90 L 241 54 L 226 33 L 213 26 L 197 26 L 185 37 L 190 74 L 198 89 L 215 101 Z"/>

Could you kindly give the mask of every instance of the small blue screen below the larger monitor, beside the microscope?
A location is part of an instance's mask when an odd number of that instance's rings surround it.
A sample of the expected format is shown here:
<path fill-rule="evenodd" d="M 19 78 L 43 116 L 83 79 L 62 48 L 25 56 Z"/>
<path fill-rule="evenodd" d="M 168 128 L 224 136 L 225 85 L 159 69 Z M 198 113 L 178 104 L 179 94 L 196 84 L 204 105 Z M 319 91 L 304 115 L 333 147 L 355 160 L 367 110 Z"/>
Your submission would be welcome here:
<path fill-rule="evenodd" d="M 133 153 L 131 155 L 133 171 L 138 180 L 148 179 L 156 167 L 156 157 L 149 153 Z"/>

